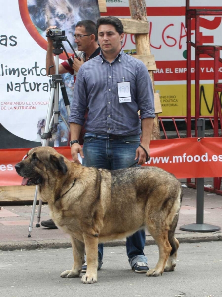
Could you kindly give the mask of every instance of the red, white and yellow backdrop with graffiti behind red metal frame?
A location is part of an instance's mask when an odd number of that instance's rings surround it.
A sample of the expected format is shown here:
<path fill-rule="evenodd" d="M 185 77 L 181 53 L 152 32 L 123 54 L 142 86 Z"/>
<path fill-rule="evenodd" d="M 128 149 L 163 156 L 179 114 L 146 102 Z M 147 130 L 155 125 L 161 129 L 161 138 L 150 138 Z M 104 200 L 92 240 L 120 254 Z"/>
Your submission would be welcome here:
<path fill-rule="evenodd" d="M 163 112 L 160 116 L 186 116 L 186 28 L 185 0 L 146 0 L 151 53 L 155 56 L 155 89 L 160 94 Z M 130 17 L 128 1 L 106 0 L 106 15 Z M 191 8 L 222 9 L 221 0 L 190 0 Z M 195 41 L 194 19 L 192 41 Z M 222 44 L 222 17 L 200 18 L 202 43 Z M 127 35 L 124 49 L 135 49 L 134 37 Z M 222 57 L 222 53 L 221 53 Z M 195 79 L 195 55 L 192 48 L 192 79 Z M 201 55 L 201 115 L 213 115 L 213 59 Z M 219 68 L 222 81 L 222 63 Z M 192 81 L 194 84 L 194 81 Z M 192 98 L 194 98 L 192 85 Z M 222 94 L 220 95 L 222 98 Z M 195 102 L 192 100 L 192 115 Z"/>

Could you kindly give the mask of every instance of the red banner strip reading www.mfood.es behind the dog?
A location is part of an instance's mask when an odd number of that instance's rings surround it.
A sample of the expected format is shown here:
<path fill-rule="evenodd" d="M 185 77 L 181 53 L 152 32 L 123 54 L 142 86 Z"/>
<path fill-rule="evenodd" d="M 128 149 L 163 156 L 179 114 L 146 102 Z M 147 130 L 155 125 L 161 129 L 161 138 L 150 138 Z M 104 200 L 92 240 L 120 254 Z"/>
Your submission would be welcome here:
<path fill-rule="evenodd" d="M 70 147 L 55 148 L 71 160 Z M 0 186 L 21 185 L 14 166 L 29 148 L 0 150 Z M 177 178 L 222 177 L 222 138 L 153 140 L 147 166 L 156 166 Z"/>

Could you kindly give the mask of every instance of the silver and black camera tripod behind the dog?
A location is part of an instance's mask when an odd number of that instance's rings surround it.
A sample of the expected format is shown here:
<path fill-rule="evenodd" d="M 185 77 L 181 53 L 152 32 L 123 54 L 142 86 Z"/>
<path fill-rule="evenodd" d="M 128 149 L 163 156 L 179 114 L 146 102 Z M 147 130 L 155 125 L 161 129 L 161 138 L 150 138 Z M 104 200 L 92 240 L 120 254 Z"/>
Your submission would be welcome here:
<path fill-rule="evenodd" d="M 66 88 L 63 83 L 62 76 L 59 74 L 59 55 L 63 53 L 63 50 L 65 51 L 67 57 L 69 58 L 63 44 L 62 40 L 67 40 L 66 36 L 56 36 L 53 37 L 53 53 L 56 55 L 55 57 L 55 74 L 53 74 L 52 77 L 52 84 L 51 84 L 51 91 L 50 91 L 50 97 L 49 97 L 49 105 L 48 105 L 48 111 L 46 116 L 46 122 L 45 122 L 45 131 L 41 136 L 41 139 L 43 139 L 42 146 L 47 146 L 49 144 L 49 139 L 52 137 L 52 130 L 55 129 L 57 131 L 57 126 L 59 124 L 59 116 L 62 118 L 63 122 L 65 123 L 67 129 L 70 131 L 69 125 L 67 124 L 66 120 L 62 116 L 62 114 L 59 111 L 59 85 L 62 91 L 62 97 L 64 100 L 64 104 L 66 106 L 67 114 L 70 115 L 70 103 L 69 99 L 66 93 Z M 62 49 L 60 49 L 62 48 Z M 49 67 L 50 68 L 54 66 Z M 35 208 L 37 203 L 37 194 L 38 189 L 36 186 L 34 200 L 33 200 L 33 207 L 30 217 L 30 224 L 29 224 L 29 234 L 28 237 L 31 237 L 31 232 L 33 229 L 33 220 L 35 215 Z M 42 200 L 39 199 L 39 205 L 38 205 L 38 213 L 37 213 L 37 224 L 36 227 L 40 227 L 40 219 L 41 219 L 41 206 L 42 206 Z"/>

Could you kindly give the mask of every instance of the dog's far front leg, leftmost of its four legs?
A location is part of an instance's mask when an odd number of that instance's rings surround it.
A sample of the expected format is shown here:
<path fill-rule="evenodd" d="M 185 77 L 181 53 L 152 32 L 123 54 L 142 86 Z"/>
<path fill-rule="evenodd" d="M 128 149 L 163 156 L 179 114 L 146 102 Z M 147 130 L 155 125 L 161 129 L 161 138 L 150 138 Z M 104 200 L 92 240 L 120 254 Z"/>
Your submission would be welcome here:
<path fill-rule="evenodd" d="M 84 263 L 84 243 L 71 236 L 74 264 L 72 270 L 65 270 L 61 277 L 79 277 Z"/>

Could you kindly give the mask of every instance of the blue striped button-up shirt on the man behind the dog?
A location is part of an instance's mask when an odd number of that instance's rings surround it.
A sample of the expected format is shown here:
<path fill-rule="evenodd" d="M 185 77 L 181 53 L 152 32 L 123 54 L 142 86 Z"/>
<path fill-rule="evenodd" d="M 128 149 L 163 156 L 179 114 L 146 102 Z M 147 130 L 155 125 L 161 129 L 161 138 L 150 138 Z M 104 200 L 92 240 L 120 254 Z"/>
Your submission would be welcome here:
<path fill-rule="evenodd" d="M 130 82 L 131 102 L 120 103 L 118 82 Z M 97 134 L 136 135 L 141 119 L 154 118 L 154 95 L 143 62 L 123 52 L 111 63 L 102 54 L 84 63 L 78 71 L 69 123 L 84 124 Z"/>

